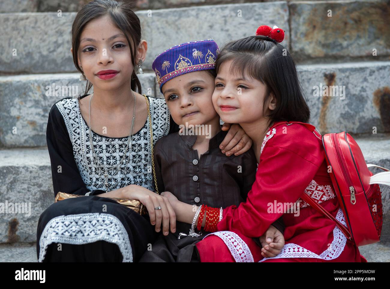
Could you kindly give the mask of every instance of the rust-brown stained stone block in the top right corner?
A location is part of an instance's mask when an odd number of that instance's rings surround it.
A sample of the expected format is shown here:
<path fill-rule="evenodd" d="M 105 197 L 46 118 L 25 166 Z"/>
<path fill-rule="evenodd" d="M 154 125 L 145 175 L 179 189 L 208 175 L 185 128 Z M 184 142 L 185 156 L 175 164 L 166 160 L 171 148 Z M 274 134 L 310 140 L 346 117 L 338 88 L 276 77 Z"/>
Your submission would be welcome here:
<path fill-rule="evenodd" d="M 390 56 L 388 0 L 294 1 L 289 11 L 291 49 L 298 61 Z"/>

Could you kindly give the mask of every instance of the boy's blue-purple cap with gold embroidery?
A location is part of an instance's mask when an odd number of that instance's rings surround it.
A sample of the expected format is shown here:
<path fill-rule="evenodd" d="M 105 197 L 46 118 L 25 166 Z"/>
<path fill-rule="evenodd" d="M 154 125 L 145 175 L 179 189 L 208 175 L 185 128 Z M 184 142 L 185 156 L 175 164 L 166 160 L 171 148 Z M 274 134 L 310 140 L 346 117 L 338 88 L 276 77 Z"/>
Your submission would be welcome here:
<path fill-rule="evenodd" d="M 190 41 L 160 53 L 152 64 L 161 88 L 168 80 L 184 73 L 214 69 L 218 45 L 213 39 Z"/>

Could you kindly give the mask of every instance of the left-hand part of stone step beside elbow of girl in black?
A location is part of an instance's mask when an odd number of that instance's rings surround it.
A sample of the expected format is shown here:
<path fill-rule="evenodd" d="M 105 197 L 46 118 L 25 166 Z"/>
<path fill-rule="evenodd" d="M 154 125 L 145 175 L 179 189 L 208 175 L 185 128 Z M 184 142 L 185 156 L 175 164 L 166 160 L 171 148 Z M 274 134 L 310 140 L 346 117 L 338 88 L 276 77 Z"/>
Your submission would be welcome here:
<path fill-rule="evenodd" d="M 39 216 L 53 201 L 47 148 L 0 150 L 0 202 L 14 207 L 0 213 L 0 243 L 36 241 Z"/>

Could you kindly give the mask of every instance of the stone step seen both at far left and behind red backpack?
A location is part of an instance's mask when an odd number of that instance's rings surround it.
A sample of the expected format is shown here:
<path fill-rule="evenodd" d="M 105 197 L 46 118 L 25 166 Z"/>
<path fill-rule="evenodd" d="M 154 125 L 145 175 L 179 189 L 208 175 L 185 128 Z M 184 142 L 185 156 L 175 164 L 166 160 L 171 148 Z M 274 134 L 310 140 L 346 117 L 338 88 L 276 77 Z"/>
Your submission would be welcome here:
<path fill-rule="evenodd" d="M 357 142 L 367 163 L 390 168 L 390 134 L 369 135 L 357 138 Z M 380 187 L 384 215 L 381 240 L 390 241 L 390 187 Z M 0 150 L 0 202 L 30 204 L 22 213 L 0 213 L 0 243 L 37 241 L 39 216 L 53 203 L 53 195 L 47 148 Z"/>

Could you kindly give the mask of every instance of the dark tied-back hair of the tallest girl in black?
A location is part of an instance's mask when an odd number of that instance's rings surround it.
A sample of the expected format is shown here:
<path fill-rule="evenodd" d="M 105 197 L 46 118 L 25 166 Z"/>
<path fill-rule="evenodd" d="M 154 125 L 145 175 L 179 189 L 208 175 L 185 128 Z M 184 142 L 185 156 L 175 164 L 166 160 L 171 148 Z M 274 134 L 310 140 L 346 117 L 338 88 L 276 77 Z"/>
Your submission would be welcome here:
<path fill-rule="evenodd" d="M 82 72 L 82 68 L 78 65 L 77 53 L 83 28 L 89 21 L 105 15 L 109 15 L 113 23 L 115 23 L 115 25 L 124 33 L 130 47 L 131 61 L 133 62 L 133 66 L 136 67 L 135 58 L 137 56 L 138 44 L 140 44 L 141 41 L 141 24 L 140 19 L 131 8 L 131 4 L 125 1 L 94 0 L 84 5 L 76 14 L 72 25 L 71 41 L 73 48 L 73 63 L 80 73 Z M 130 35 L 131 40 L 128 35 Z M 86 95 L 91 88 L 92 83 L 87 80 L 84 95 Z M 133 70 L 131 75 L 131 89 L 134 91 L 137 89 L 138 93 L 142 93 L 141 83 L 135 74 L 135 70 Z M 81 95 L 78 97 L 79 99 L 80 96 Z"/>

